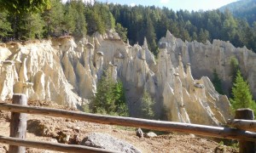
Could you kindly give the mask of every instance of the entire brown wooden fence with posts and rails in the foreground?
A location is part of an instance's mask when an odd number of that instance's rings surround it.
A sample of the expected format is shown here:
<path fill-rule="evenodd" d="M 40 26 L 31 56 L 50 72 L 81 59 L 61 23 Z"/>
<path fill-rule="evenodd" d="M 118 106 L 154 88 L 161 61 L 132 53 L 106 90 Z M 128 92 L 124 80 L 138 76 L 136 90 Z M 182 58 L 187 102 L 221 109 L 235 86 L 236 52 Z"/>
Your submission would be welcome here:
<path fill-rule="evenodd" d="M 193 133 L 196 135 L 221 139 L 238 139 L 240 152 L 254 152 L 256 141 L 256 122 L 253 111 L 240 109 L 236 111 L 235 120 L 230 121 L 231 127 L 212 127 L 181 122 L 163 122 L 122 116 L 102 116 L 79 111 L 66 111 L 26 105 L 25 94 L 14 94 L 13 104 L 0 103 L 1 111 L 11 111 L 10 137 L 0 136 L 0 143 L 10 144 L 9 152 L 25 152 L 25 147 L 64 152 L 114 152 L 82 145 L 47 143 L 26 140 L 26 114 L 66 117 L 84 122 L 96 122 L 127 127 L 143 127 L 166 132 Z M 248 121 L 251 120 L 251 121 Z M 251 130 L 251 131 L 248 131 Z"/>

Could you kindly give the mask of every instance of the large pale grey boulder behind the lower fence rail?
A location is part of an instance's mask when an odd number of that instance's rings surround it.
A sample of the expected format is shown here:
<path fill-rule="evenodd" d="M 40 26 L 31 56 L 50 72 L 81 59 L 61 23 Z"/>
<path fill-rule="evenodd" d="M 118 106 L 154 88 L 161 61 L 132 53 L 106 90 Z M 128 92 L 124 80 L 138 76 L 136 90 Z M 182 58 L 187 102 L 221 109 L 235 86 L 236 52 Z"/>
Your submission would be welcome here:
<path fill-rule="evenodd" d="M 125 142 L 124 140 L 116 139 L 107 133 L 90 133 L 82 140 L 81 145 L 127 153 L 141 152 L 133 145 Z"/>

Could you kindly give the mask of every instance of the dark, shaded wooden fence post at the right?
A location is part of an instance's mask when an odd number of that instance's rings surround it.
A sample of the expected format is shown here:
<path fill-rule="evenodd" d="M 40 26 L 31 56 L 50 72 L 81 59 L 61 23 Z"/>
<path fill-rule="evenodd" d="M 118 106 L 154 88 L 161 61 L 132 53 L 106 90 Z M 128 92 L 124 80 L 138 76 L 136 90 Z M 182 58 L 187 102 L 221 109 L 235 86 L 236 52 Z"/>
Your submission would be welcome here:
<path fill-rule="evenodd" d="M 244 119 L 244 120 L 253 120 L 253 110 L 251 109 L 238 109 L 236 110 L 235 119 Z M 239 152 L 247 153 L 247 152 L 255 152 L 255 142 L 239 140 Z"/>

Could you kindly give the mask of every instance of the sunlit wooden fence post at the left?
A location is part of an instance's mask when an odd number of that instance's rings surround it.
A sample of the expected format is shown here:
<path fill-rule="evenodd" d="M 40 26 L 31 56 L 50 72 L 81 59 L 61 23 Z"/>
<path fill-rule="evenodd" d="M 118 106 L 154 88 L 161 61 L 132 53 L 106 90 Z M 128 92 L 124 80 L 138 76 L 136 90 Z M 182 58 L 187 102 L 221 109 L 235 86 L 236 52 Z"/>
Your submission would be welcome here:
<path fill-rule="evenodd" d="M 27 105 L 26 94 L 14 94 L 13 104 Z M 25 139 L 26 138 L 26 113 L 12 112 L 10 122 L 10 137 Z M 9 145 L 10 153 L 25 153 L 26 147 Z"/>

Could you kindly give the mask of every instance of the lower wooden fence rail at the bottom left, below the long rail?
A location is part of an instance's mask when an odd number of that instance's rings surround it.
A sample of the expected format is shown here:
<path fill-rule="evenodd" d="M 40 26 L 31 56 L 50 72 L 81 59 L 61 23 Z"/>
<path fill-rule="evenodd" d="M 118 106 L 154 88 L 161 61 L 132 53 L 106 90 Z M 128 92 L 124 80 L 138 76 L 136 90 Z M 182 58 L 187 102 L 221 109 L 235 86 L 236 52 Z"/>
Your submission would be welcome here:
<path fill-rule="evenodd" d="M 12 144 L 12 145 L 20 145 L 25 147 L 32 147 L 44 150 L 56 150 L 62 152 L 115 152 L 114 150 L 104 150 L 99 148 L 92 148 L 84 145 L 74 145 L 74 144 L 58 144 L 52 142 L 42 142 L 42 141 L 34 141 L 34 140 L 26 140 L 26 139 L 18 139 L 11 137 L 4 137 L 0 135 L 0 143 L 3 144 Z"/>

